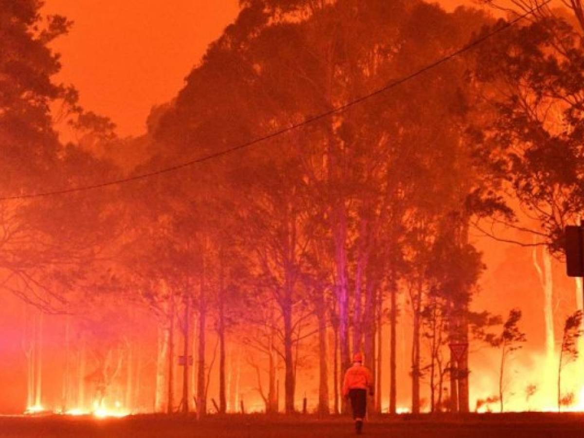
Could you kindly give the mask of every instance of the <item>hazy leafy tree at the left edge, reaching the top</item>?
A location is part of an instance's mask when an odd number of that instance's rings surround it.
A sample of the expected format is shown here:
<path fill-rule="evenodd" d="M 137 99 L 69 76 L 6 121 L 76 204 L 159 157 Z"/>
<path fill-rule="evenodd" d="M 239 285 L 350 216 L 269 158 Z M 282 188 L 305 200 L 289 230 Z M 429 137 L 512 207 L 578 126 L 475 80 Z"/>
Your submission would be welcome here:
<path fill-rule="evenodd" d="M 71 22 L 43 17 L 38 1 L 0 6 L 0 183 L 7 198 L 0 201 L 0 281 L 3 290 L 44 312 L 62 313 L 72 298 L 72 279 L 84 279 L 89 263 L 115 235 L 117 206 L 110 202 L 115 190 L 22 195 L 116 178 L 116 166 L 77 142 L 62 142 L 55 129 L 60 119 L 71 122 L 74 131 L 96 135 L 111 135 L 113 126 L 105 118 L 102 126 L 89 123 L 95 114 L 79 107 L 77 91 L 55 82 L 61 64 L 50 43 L 66 34 Z"/>

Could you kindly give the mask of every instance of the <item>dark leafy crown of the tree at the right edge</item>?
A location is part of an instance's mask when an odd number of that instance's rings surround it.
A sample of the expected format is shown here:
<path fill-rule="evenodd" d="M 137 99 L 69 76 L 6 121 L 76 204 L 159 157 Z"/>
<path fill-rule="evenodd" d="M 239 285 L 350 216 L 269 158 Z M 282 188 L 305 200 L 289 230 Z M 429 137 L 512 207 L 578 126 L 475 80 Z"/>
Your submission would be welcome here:
<path fill-rule="evenodd" d="M 582 211 L 581 37 L 547 16 L 514 27 L 477 52 L 474 77 L 491 86 L 485 99 L 496 117 L 485 126 L 485 156 L 505 175 L 552 253 L 562 253 L 565 225 Z"/>

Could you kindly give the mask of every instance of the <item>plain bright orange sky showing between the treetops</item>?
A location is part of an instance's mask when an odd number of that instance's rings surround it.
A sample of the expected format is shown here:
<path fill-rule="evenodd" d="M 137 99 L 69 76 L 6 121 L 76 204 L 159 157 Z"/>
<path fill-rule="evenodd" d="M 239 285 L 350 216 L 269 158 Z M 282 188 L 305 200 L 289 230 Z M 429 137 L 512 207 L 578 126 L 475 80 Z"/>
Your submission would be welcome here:
<path fill-rule="evenodd" d="M 86 109 L 111 117 L 122 136 L 144 132 L 151 107 L 176 95 L 238 11 L 238 0 L 46 0 L 44 8 L 75 22 L 54 44 L 59 79 L 79 89 Z"/>

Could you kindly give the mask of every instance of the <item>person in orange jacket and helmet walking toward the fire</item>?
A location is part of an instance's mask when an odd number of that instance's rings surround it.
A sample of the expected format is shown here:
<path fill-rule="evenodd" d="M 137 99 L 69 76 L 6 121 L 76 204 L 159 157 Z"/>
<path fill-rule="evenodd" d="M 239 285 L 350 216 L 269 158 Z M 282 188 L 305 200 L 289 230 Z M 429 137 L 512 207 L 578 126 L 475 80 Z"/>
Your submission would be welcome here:
<path fill-rule="evenodd" d="M 355 353 L 353 366 L 345 373 L 343 397 L 348 397 L 351 401 L 357 434 L 363 430 L 363 419 L 367 411 L 367 392 L 373 395 L 373 377 L 371 377 L 371 371 L 363 366 L 363 354 Z"/>

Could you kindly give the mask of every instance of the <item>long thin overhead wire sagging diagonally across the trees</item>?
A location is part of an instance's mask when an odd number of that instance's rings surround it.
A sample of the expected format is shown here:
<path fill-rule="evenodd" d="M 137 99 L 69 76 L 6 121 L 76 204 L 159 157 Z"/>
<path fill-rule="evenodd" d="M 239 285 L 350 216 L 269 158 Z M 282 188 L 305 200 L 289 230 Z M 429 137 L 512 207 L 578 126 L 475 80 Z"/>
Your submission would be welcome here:
<path fill-rule="evenodd" d="M 396 79 L 395 81 L 390 82 L 389 84 L 385 85 L 383 88 L 379 88 L 376 91 L 373 91 L 369 94 L 361 96 L 360 98 L 350 100 L 350 102 L 347 102 L 341 106 L 334 107 L 333 109 L 328 110 L 324 113 L 320 113 L 320 114 L 317 114 L 316 116 L 312 116 L 312 117 L 307 117 L 306 119 L 304 119 L 301 122 L 291 124 L 290 126 L 288 126 L 286 128 L 282 128 L 282 129 L 277 130 L 277 131 L 273 131 L 272 133 L 264 135 L 263 137 L 257 137 L 254 140 L 238 144 L 238 145 L 233 146 L 231 148 L 224 149 L 223 151 L 213 152 L 213 154 L 204 155 L 204 157 L 195 158 L 195 159 L 192 159 L 190 161 L 183 162 L 181 164 L 166 167 L 164 169 L 158 169 L 157 171 L 145 172 L 145 173 L 141 173 L 140 175 L 128 176 L 127 178 L 114 179 L 114 180 L 110 180 L 110 181 L 106 181 L 106 182 L 102 182 L 102 183 L 98 183 L 98 184 L 93 184 L 93 185 L 87 185 L 87 186 L 70 187 L 68 189 L 54 190 L 54 191 L 49 191 L 49 192 L 21 194 L 18 196 L 4 196 L 4 197 L 0 197 L 0 201 L 17 200 L 17 199 L 32 199 L 32 198 L 38 198 L 38 197 L 57 196 L 57 195 L 67 194 L 67 193 L 85 192 L 87 190 L 101 189 L 103 187 L 119 185 L 119 184 L 123 184 L 123 183 L 152 178 L 153 176 L 163 175 L 165 173 L 176 172 L 176 171 L 179 171 L 180 169 L 184 169 L 184 168 L 193 166 L 195 164 L 200 164 L 200 163 L 203 163 L 206 161 L 210 161 L 211 159 L 215 159 L 215 158 L 223 157 L 224 155 L 232 154 L 232 152 L 236 152 L 239 150 L 243 150 L 243 149 L 252 147 L 253 145 L 256 145 L 258 143 L 261 143 L 261 142 L 264 142 L 267 140 L 271 140 L 272 138 L 279 137 L 280 135 L 289 133 L 290 131 L 294 131 L 294 130 L 301 128 L 303 126 L 314 123 L 315 121 L 326 119 L 327 117 L 333 116 L 334 114 L 339 114 L 339 113 L 345 112 L 347 109 L 350 109 L 353 106 L 359 105 L 360 103 L 363 103 L 366 100 L 370 100 L 371 98 L 374 98 L 375 96 L 378 96 L 378 95 L 381 95 L 387 91 L 390 91 L 392 88 L 395 88 L 401 84 L 404 84 L 405 82 L 408 82 L 411 79 L 417 78 L 417 77 L 421 76 L 422 74 L 424 74 L 425 72 L 427 72 L 435 67 L 439 67 L 439 65 L 445 64 L 446 62 L 457 57 L 458 55 L 461 55 L 461 54 L 471 50 L 472 48 L 479 46 L 479 44 L 482 44 L 486 40 L 491 39 L 491 37 L 495 36 L 496 34 L 502 33 L 505 30 L 509 29 L 510 27 L 515 26 L 521 20 L 526 19 L 528 16 L 536 13 L 538 10 L 540 10 L 544 6 L 548 5 L 550 2 L 551 2 L 551 0 L 547 0 L 547 1 L 543 2 L 542 4 L 535 6 L 533 9 L 530 9 L 529 11 L 527 11 L 521 15 L 518 15 L 515 19 L 510 20 L 509 22 L 506 22 L 505 25 L 498 27 L 497 29 L 493 30 L 492 32 L 486 33 L 484 36 L 479 37 L 478 39 L 472 41 L 471 43 L 467 44 L 466 46 L 459 48 L 458 50 L 446 55 L 445 57 L 440 58 L 439 60 L 434 61 L 431 64 L 428 64 L 425 67 L 422 67 L 419 70 L 412 72 L 411 74 L 409 74 L 405 77 L 402 77 L 402 78 Z"/>

